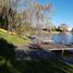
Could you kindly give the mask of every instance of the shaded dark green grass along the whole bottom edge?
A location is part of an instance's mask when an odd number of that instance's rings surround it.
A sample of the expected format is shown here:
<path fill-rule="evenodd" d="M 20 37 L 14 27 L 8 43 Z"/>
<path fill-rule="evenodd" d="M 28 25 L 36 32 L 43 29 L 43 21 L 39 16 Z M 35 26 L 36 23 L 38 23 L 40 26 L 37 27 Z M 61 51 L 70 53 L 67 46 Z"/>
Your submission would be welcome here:
<path fill-rule="evenodd" d="M 0 66 L 4 68 L 3 72 L 7 70 L 9 73 L 73 73 L 73 65 L 51 59 L 14 61 L 13 63 L 8 60 L 4 63 L 0 64 Z"/>

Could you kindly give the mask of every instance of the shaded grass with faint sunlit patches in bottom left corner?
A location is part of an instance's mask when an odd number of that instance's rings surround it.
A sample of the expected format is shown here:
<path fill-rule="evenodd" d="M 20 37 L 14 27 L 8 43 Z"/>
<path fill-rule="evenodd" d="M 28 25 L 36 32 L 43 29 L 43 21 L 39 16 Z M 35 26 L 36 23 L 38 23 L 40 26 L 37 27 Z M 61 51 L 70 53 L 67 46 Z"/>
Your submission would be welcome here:
<path fill-rule="evenodd" d="M 5 60 L 4 57 L 0 57 L 0 72 L 1 73 L 21 73 L 15 66 L 10 62 L 10 60 Z"/>

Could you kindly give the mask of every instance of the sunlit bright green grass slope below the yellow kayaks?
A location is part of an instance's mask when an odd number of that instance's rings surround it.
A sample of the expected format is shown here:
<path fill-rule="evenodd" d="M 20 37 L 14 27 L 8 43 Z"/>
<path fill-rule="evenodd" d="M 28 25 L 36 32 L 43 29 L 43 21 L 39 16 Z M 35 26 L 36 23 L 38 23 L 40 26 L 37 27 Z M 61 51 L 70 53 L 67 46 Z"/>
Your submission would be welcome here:
<path fill-rule="evenodd" d="M 23 45 L 23 44 L 29 44 L 32 42 L 31 39 L 25 37 L 24 39 L 19 37 L 17 35 L 10 35 L 9 33 L 0 32 L 0 38 L 5 39 L 8 42 L 13 45 Z"/>

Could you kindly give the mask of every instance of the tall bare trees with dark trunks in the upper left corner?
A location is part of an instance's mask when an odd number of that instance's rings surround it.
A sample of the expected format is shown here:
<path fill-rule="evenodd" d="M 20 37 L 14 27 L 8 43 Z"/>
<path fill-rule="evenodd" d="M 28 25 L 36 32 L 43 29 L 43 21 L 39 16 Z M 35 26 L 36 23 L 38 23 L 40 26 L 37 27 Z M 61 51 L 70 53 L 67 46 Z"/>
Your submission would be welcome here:
<path fill-rule="evenodd" d="M 0 0 L 0 27 L 9 29 L 14 22 L 14 0 Z"/>

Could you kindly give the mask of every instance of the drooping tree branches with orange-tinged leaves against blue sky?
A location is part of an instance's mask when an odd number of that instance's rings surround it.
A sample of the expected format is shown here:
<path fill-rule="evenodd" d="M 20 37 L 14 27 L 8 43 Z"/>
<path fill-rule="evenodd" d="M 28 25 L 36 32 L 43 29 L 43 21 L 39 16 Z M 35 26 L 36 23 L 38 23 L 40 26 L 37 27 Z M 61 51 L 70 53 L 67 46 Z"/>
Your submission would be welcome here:
<path fill-rule="evenodd" d="M 39 26 L 40 24 L 39 24 L 39 20 L 42 20 L 44 21 L 44 19 L 47 19 L 47 16 L 46 16 L 46 13 L 45 12 L 50 12 L 51 10 L 52 10 L 52 4 L 51 3 L 48 3 L 48 4 L 45 4 L 45 5 L 41 5 L 41 4 L 39 4 L 39 3 L 35 3 L 34 4 L 34 8 L 35 8 L 35 15 L 36 15 L 36 21 L 38 22 L 38 23 L 36 23 L 36 27 L 38 28 L 38 29 L 40 29 L 40 27 L 41 26 Z"/>

